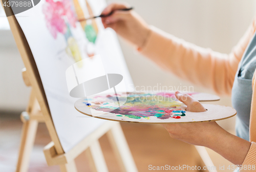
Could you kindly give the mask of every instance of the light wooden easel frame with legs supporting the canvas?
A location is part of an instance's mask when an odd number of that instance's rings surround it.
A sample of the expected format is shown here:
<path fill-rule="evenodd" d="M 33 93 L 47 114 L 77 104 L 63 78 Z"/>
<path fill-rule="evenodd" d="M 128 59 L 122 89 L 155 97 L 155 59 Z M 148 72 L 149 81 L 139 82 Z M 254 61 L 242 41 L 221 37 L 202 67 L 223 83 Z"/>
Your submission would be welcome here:
<path fill-rule="evenodd" d="M 7 10 L 11 11 L 11 8 Z M 65 153 L 63 151 L 51 118 L 40 75 L 27 39 L 15 16 L 9 16 L 8 20 L 18 50 L 26 67 L 22 72 L 24 82 L 26 85 L 32 87 L 27 110 L 21 115 L 24 125 L 16 171 L 25 172 L 28 170 L 30 153 L 33 148 L 38 122 L 45 122 L 52 139 L 52 141 L 44 148 L 44 154 L 48 165 L 59 165 L 62 172 L 76 172 L 77 169 L 74 159 L 78 155 L 84 153 L 89 157 L 93 171 L 108 171 L 98 142 L 98 139 L 102 135 L 107 134 L 121 170 L 136 172 L 136 165 L 123 135 L 122 128 L 118 122 L 109 121 L 104 123 L 97 128 L 96 131 L 69 150 L 69 152 Z"/>

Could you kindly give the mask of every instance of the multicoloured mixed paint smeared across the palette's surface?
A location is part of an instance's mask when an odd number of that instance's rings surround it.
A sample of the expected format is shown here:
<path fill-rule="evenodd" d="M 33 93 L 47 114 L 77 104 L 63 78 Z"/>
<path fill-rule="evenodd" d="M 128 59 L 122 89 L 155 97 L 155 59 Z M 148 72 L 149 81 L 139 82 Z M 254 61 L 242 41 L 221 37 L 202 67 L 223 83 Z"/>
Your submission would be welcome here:
<path fill-rule="evenodd" d="M 119 107 L 117 100 L 122 102 L 123 99 L 126 102 Z M 183 105 L 181 102 L 178 102 L 173 96 L 163 96 L 162 94 L 103 95 L 95 96 L 92 103 L 88 103 L 88 99 L 84 99 L 83 103 L 93 110 L 118 114 L 118 117 L 150 119 L 155 116 L 159 119 L 178 119 L 185 116 L 185 111 L 180 109 L 180 106 Z"/>

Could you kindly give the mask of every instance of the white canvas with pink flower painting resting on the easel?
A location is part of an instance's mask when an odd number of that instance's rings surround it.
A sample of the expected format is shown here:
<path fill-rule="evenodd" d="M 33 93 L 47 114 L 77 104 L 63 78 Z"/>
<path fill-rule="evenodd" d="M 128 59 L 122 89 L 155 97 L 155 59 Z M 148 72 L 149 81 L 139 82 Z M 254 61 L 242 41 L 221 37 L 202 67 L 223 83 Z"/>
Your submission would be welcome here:
<path fill-rule="evenodd" d="M 104 29 L 100 18 L 77 22 L 100 14 L 105 6 L 101 0 L 42 0 L 15 15 L 34 56 L 65 152 L 104 123 L 100 119 L 79 118 L 83 115 L 74 108 L 77 98 L 71 97 L 67 88 L 66 70 L 70 66 L 100 55 L 106 73 L 122 75 L 127 89 L 133 87 L 115 32 Z M 78 68 L 83 68 L 82 63 Z"/>

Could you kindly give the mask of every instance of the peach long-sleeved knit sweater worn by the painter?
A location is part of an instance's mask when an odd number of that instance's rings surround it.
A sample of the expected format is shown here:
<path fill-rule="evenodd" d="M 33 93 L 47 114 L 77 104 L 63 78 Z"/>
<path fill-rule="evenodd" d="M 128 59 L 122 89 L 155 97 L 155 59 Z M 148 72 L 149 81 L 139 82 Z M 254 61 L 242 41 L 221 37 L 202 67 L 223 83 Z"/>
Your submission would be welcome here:
<path fill-rule="evenodd" d="M 230 95 L 239 62 L 256 29 L 256 18 L 231 53 L 222 54 L 194 44 L 151 27 L 145 43 L 138 49 L 144 56 L 159 66 L 217 94 Z M 243 162 L 256 166 L 256 84 L 252 81 L 252 101 L 250 114 L 251 147 Z M 255 105 L 254 105 L 255 104 Z M 244 171 L 256 171 L 244 170 Z"/>

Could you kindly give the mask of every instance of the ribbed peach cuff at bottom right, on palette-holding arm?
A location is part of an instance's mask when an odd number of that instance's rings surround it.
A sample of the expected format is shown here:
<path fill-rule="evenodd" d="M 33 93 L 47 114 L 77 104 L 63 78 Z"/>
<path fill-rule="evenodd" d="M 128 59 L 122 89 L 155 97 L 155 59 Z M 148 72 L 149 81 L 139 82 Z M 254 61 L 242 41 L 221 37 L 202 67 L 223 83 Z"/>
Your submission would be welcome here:
<path fill-rule="evenodd" d="M 240 172 L 256 172 L 256 143 L 251 142 L 250 149 L 244 159 Z"/>

